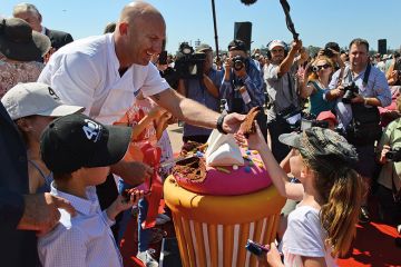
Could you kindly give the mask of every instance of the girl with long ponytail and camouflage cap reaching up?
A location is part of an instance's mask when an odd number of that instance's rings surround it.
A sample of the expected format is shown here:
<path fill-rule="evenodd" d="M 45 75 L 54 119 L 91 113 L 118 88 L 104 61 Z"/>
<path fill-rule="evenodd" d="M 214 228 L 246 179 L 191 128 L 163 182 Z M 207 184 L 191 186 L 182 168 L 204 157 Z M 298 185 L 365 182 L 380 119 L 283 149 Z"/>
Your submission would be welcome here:
<path fill-rule="evenodd" d="M 300 151 L 290 165 L 301 184 L 288 182 L 258 128 L 248 146 L 260 151 L 278 192 L 301 202 L 290 214 L 282 240 L 284 265 L 274 243 L 267 258 L 258 260 L 265 266 L 336 266 L 335 257 L 350 248 L 360 212 L 362 181 L 351 168 L 356 151 L 336 132 L 317 127 L 284 134 L 280 140 Z M 293 169 L 300 164 L 301 169 Z"/>

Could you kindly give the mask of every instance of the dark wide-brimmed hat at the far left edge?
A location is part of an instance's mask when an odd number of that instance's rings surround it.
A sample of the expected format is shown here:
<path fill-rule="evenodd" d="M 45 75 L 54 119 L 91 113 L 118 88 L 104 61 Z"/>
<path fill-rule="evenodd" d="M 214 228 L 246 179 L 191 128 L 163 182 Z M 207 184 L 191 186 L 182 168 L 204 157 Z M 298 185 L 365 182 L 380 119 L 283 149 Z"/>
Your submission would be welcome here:
<path fill-rule="evenodd" d="M 3 19 L 0 23 L 0 51 L 8 59 L 39 61 L 49 51 L 50 39 L 18 18 Z"/>

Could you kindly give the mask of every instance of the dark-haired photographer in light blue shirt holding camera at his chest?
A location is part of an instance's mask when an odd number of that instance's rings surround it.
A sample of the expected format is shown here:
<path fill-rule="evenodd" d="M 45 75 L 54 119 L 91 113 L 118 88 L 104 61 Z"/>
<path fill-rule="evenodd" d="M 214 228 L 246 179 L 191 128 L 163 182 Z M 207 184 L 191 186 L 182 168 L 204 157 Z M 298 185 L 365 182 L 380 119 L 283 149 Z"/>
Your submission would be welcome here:
<path fill-rule="evenodd" d="M 368 191 L 375 171 L 374 142 L 380 137 L 378 107 L 391 103 L 391 92 L 384 73 L 369 65 L 369 43 L 354 39 L 350 43 L 350 66 L 338 70 L 324 97 L 335 101 L 339 128 L 353 144 L 359 155 L 355 170 L 364 178 L 366 188 L 361 208 L 361 222 L 368 222 Z"/>

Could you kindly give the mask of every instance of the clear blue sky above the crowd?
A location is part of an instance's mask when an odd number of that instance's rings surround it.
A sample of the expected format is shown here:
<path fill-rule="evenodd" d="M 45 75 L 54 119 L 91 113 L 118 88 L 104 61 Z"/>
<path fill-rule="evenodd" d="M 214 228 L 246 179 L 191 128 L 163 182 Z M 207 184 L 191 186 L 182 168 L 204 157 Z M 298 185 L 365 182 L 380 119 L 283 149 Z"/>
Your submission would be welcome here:
<path fill-rule="evenodd" d="M 355 37 L 365 38 L 373 49 L 378 39 L 388 48 L 401 44 L 400 0 L 287 0 L 291 16 L 304 46 L 322 47 L 336 41 L 341 47 Z M 11 16 L 20 1 L 1 0 L 0 14 Z M 100 34 L 109 21 L 117 20 L 129 1 L 120 0 L 31 0 L 50 29 L 68 31 L 75 39 Z M 176 51 L 180 41 L 199 39 L 214 44 L 211 0 L 148 0 L 164 14 L 167 23 L 167 50 Z M 219 48 L 234 37 L 235 21 L 251 21 L 252 48 L 272 39 L 290 41 L 284 13 L 278 0 L 258 0 L 246 7 L 239 0 L 215 0 Z"/>

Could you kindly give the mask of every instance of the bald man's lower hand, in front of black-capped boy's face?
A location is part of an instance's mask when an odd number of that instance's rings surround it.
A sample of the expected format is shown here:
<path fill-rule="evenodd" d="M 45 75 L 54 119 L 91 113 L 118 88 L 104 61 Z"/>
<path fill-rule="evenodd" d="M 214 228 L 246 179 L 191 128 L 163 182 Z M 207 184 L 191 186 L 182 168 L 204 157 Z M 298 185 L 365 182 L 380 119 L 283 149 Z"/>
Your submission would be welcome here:
<path fill-rule="evenodd" d="M 111 172 L 121 177 L 125 182 L 138 186 L 153 175 L 154 169 L 143 162 L 123 159 L 111 166 Z"/>

